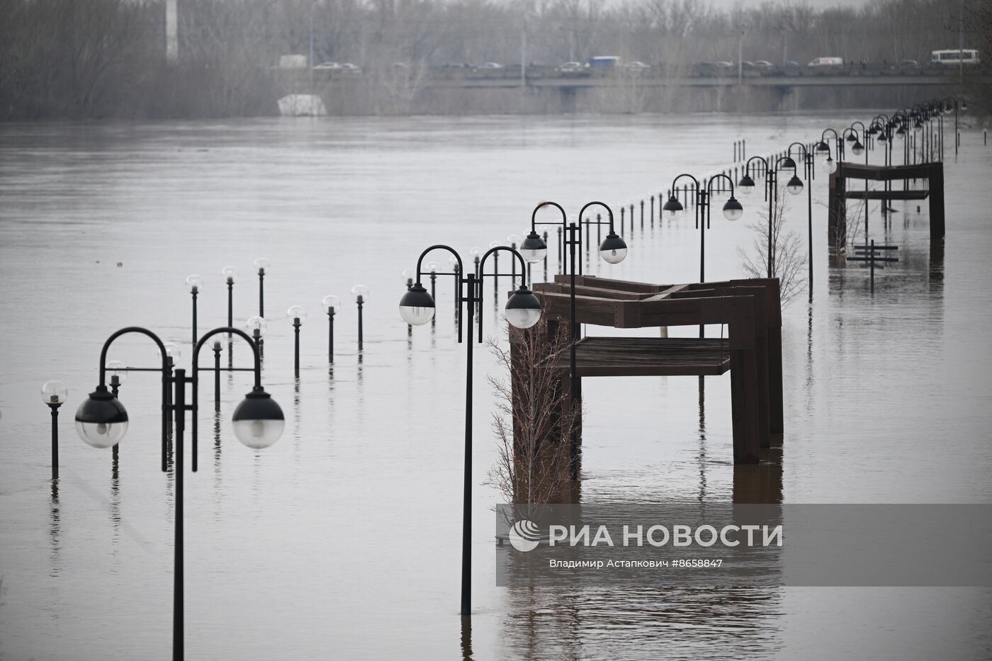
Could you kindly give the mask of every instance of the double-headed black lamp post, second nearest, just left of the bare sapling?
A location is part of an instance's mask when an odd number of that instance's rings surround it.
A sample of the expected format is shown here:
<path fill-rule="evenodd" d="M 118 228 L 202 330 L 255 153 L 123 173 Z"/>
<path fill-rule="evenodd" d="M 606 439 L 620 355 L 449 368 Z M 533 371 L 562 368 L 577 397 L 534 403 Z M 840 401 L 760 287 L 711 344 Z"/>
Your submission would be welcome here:
<path fill-rule="evenodd" d="M 437 275 L 452 275 L 458 284 L 458 305 L 465 306 L 468 315 L 467 329 L 468 337 L 465 341 L 465 465 L 461 513 L 461 614 L 469 615 L 472 611 L 472 314 L 476 304 L 482 303 L 483 287 L 482 278 L 493 277 L 492 273 L 485 273 L 484 267 L 486 259 L 498 251 L 505 250 L 511 254 L 512 259 L 518 260 L 520 264 L 520 289 L 513 293 L 506 302 L 506 319 L 518 329 L 529 329 L 541 319 L 541 302 L 531 293 L 524 281 L 524 258 L 519 252 L 507 246 L 497 246 L 490 248 L 479 260 L 479 277 L 476 278 L 474 268 L 467 271 L 461 256 L 455 250 L 446 245 L 433 245 L 421 253 L 417 260 L 417 281 L 407 290 L 403 298 L 400 299 L 400 317 L 411 326 L 424 326 L 434 318 L 434 297 L 421 284 L 421 276 L 424 275 L 424 257 L 432 250 L 446 250 L 455 258 L 458 269 L 453 273 L 439 273 Z M 462 291 L 464 290 L 464 295 Z M 481 310 L 481 305 L 480 305 Z M 461 341 L 461 316 L 458 317 L 458 341 Z M 482 325 L 479 324 L 478 341 L 482 341 Z"/>

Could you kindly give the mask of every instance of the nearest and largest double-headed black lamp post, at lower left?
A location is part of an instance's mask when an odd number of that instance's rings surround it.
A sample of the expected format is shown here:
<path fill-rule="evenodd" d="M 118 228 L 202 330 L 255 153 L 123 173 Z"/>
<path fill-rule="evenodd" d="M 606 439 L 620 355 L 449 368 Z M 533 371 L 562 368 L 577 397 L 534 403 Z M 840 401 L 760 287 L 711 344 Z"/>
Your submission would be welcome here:
<path fill-rule="evenodd" d="M 130 367 L 131 371 L 158 371 L 162 373 L 162 469 L 166 470 L 166 423 L 170 414 L 175 419 L 176 429 L 176 525 L 175 525 L 175 570 L 173 588 L 173 659 L 182 661 L 185 656 L 184 640 L 184 568 L 183 568 L 183 433 L 186 428 L 186 411 L 191 412 L 192 426 L 192 469 L 196 470 L 196 394 L 197 370 L 196 359 L 199 349 L 211 335 L 218 333 L 236 334 L 247 340 L 255 356 L 254 375 L 255 385 L 245 399 L 234 409 L 231 418 L 234 436 L 244 445 L 253 450 L 268 448 L 274 444 L 283 433 L 286 420 L 279 404 L 262 388 L 262 366 L 259 359 L 258 347 L 244 331 L 224 327 L 209 331 L 199 338 L 192 354 L 192 376 L 186 376 L 185 369 L 177 369 L 175 375 L 170 375 L 166 358 L 166 347 L 157 334 L 140 327 L 128 327 L 110 335 L 103 343 L 100 352 L 100 380 L 96 390 L 79 405 L 75 412 L 75 429 L 79 437 L 93 448 L 110 448 L 117 445 L 124 437 L 128 427 L 127 410 L 121 401 L 107 389 L 106 365 L 107 349 L 110 344 L 128 333 L 141 333 L 150 337 L 157 345 L 162 356 L 161 367 L 141 368 Z M 186 403 L 186 384 L 192 384 L 192 398 Z M 166 394 L 170 386 L 175 386 L 175 397 L 170 403 Z"/>

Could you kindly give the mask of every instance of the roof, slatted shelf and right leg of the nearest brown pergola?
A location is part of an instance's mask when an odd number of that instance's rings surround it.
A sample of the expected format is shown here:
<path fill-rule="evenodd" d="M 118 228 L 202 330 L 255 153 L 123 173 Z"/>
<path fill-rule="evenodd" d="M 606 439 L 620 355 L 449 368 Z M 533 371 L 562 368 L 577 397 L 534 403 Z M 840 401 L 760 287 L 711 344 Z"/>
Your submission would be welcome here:
<path fill-rule="evenodd" d="M 556 325 L 568 323 L 568 276 L 536 284 L 534 290 L 548 320 L 543 330 L 547 341 L 558 331 Z M 575 321 L 616 329 L 726 325 L 728 334 L 721 338 L 582 337 L 575 351 L 579 394 L 581 379 L 587 377 L 714 376 L 729 371 L 734 463 L 758 463 L 762 448 L 769 448 L 773 439 L 781 441 L 782 308 L 777 278 L 654 285 L 578 276 Z M 519 331 L 511 341 L 520 341 Z M 568 363 L 567 351 L 551 362 L 564 391 L 569 390 Z"/>

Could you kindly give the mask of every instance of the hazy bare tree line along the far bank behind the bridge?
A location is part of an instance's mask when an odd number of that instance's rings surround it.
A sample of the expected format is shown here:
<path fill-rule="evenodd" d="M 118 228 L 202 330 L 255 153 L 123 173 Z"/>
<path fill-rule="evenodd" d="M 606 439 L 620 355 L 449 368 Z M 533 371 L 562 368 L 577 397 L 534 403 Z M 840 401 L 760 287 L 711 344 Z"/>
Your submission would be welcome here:
<path fill-rule="evenodd" d="M 703 0 L 178 0 L 166 59 L 165 0 L 0 0 L 0 119 L 265 115 L 286 90 L 273 67 L 301 54 L 351 62 L 359 111 L 403 112 L 430 66 L 558 65 L 598 55 L 697 62 L 917 60 L 957 47 L 958 4 L 792 0 L 719 11 Z M 964 48 L 989 47 L 987 0 L 964 0 Z M 743 34 L 742 34 L 743 33 Z"/>

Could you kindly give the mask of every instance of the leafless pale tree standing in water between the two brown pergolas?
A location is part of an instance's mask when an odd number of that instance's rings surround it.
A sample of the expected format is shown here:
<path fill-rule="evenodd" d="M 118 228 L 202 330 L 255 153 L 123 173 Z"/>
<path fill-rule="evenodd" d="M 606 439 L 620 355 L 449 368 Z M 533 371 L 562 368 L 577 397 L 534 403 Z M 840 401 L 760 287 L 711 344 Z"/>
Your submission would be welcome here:
<path fill-rule="evenodd" d="M 806 289 L 806 241 L 795 230 L 785 229 L 788 208 L 784 188 L 776 187 L 772 197 L 772 221 L 769 222 L 768 211 L 759 211 L 761 219 L 747 225 L 757 235 L 752 251 L 737 248 L 744 272 L 752 278 L 765 278 L 768 276 L 768 236 L 771 232 L 772 277 L 779 279 L 783 306 Z"/>

